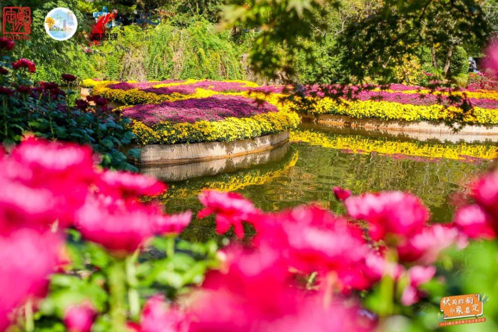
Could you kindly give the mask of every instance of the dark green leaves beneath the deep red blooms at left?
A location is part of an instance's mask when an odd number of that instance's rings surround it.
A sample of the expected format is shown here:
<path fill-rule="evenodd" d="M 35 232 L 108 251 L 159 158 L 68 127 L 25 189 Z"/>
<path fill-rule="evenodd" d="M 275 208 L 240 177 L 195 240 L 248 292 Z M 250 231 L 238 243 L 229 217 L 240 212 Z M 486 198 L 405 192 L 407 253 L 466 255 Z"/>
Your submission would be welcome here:
<path fill-rule="evenodd" d="M 10 58 L 0 62 L 8 68 L 8 76 L 0 76 L 0 87 L 31 87 L 25 69 L 14 71 Z M 42 88 L 38 91 L 14 92 L 0 95 L 0 142 L 18 143 L 27 132 L 49 140 L 60 140 L 90 145 L 100 154 L 101 165 L 107 168 L 136 171 L 126 162 L 121 152 L 131 143 L 134 135 L 127 129 L 129 119 L 110 113 L 106 106 L 78 109 L 70 105 L 74 92 L 59 88 Z"/>

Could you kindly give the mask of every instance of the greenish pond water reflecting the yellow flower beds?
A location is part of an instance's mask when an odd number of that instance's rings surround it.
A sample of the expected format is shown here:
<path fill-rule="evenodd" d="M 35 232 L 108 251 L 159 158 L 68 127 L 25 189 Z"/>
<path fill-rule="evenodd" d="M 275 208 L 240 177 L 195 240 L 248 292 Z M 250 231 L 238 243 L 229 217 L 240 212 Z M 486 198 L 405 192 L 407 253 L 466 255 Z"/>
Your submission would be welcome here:
<path fill-rule="evenodd" d="M 302 125 L 288 143 L 271 153 L 203 165 L 141 169 L 170 186 L 161 197 L 169 213 L 202 208 L 203 188 L 240 192 L 265 211 L 316 203 L 336 213 L 344 208 L 333 186 L 354 194 L 379 190 L 411 191 L 429 207 L 436 222 L 448 222 L 454 201 L 491 166 L 496 144 L 418 141 L 358 130 Z M 197 173 L 196 173 L 197 172 Z M 221 174 L 216 174 L 223 172 Z M 185 179 L 189 176 L 201 175 Z M 214 219 L 194 220 L 182 237 L 216 237 Z"/>

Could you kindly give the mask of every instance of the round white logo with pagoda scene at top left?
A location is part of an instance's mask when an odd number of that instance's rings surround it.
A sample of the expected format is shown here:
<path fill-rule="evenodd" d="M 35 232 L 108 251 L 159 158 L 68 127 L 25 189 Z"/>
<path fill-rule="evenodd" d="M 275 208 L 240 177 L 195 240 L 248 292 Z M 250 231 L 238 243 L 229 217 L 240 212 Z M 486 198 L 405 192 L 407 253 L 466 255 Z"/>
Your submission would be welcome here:
<path fill-rule="evenodd" d="M 76 33 L 77 28 L 76 15 L 68 8 L 54 8 L 45 17 L 45 31 L 55 40 L 71 38 Z"/>

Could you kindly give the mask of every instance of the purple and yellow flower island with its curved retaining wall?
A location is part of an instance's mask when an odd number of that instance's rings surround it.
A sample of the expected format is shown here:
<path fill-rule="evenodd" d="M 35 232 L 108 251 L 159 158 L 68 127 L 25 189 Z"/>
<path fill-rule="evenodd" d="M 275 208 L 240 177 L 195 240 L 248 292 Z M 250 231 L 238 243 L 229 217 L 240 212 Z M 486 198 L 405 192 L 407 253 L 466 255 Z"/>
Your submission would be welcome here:
<path fill-rule="evenodd" d="M 246 81 L 85 80 L 91 94 L 131 119 L 140 166 L 232 158 L 277 148 L 299 117 L 277 92 Z M 130 146 L 130 148 L 136 148 Z"/>

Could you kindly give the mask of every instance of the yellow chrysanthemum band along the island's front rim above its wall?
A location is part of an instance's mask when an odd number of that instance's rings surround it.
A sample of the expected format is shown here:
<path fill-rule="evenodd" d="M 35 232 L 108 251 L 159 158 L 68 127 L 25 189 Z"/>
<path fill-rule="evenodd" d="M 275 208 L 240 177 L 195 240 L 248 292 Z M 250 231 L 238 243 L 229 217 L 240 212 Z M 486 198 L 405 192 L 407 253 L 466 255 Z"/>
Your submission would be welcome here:
<path fill-rule="evenodd" d="M 195 123 L 159 122 L 151 127 L 132 121 L 131 131 L 138 144 L 176 144 L 199 142 L 231 142 L 276 134 L 299 124 L 294 112 L 279 110 L 248 118 L 227 118 L 221 121 Z"/>

